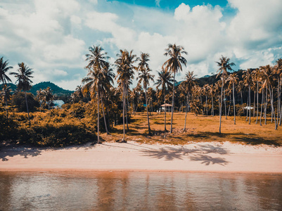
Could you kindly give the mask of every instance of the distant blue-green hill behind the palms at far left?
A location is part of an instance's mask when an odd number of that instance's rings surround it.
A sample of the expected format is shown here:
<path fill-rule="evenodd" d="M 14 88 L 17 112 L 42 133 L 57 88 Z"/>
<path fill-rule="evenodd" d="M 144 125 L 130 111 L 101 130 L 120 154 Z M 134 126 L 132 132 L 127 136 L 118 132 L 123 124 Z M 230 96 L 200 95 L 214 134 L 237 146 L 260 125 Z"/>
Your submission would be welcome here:
<path fill-rule="evenodd" d="M 10 86 L 10 88 L 13 91 L 15 91 L 15 89 L 17 89 L 17 86 L 15 86 L 15 84 L 10 83 L 10 84 L 7 84 L 7 85 Z M 2 87 L 3 84 L 1 84 L 0 86 Z M 28 92 L 31 92 L 35 96 L 37 94 L 37 90 L 46 89 L 47 87 L 50 87 L 53 94 L 56 94 L 56 96 L 70 95 L 74 92 L 74 91 L 70 91 L 70 90 L 60 88 L 56 84 L 53 84 L 52 82 L 40 82 L 39 84 L 34 84 L 32 86 L 32 89 L 30 89 L 30 91 L 28 91 Z"/>

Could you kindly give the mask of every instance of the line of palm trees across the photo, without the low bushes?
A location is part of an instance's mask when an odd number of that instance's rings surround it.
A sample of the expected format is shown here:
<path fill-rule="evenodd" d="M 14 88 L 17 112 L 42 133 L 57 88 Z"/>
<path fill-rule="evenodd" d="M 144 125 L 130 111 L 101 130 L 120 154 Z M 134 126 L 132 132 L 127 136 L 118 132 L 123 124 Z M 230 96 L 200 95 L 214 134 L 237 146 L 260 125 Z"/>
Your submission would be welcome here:
<path fill-rule="evenodd" d="M 167 131 L 167 102 L 172 103 L 170 133 L 172 133 L 175 110 L 185 112 L 184 131 L 188 112 L 193 112 L 195 115 L 219 115 L 219 133 L 221 133 L 223 113 L 226 118 L 233 114 L 234 124 L 236 124 L 238 115 L 245 115 L 249 124 L 252 115 L 256 117 L 256 124 L 258 120 L 260 125 L 263 121 L 264 124 L 267 124 L 267 115 L 269 115 L 271 122 L 274 121 L 275 129 L 281 125 L 281 58 L 276 60 L 275 65 L 235 72 L 232 69 L 235 64 L 231 63 L 229 58 L 222 56 L 219 61 L 216 61 L 219 69 L 214 82 L 200 87 L 193 71 L 186 72 L 183 82 L 177 83 L 175 80 L 175 75 L 182 71 L 183 65 L 187 64 L 184 57 L 187 54 L 183 46 L 169 44 L 164 53 L 168 59 L 165 60 L 162 70 L 157 72 L 158 75 L 155 77 L 150 69 L 148 53 L 141 52 L 140 56 L 137 56 L 133 51 L 120 50 L 115 63 L 110 64 L 107 52 L 101 46 L 91 46 L 89 53 L 86 54 L 85 68 L 88 74 L 82 79 L 82 85 L 77 86 L 75 92 L 70 96 L 70 103 L 96 102 L 93 105 L 97 106 L 98 143 L 100 141 L 100 112 L 103 115 L 103 124 L 107 134 L 110 134 L 108 127 L 113 122 L 118 124 L 118 120 L 122 117 L 122 141 L 125 141 L 125 128 L 129 129 L 130 115 L 145 108 L 148 134 L 151 134 L 149 113 L 158 110 L 163 103 L 165 104 L 164 129 Z M 8 60 L 5 61 L 2 57 L 0 59 L 0 82 L 4 84 L 1 96 L 5 108 L 8 107 L 8 101 L 11 99 L 11 91 L 7 87 L 7 83 L 11 82 L 8 77 L 8 71 L 11 69 L 12 67 L 8 66 Z M 138 84 L 131 89 L 135 72 Z M 29 122 L 30 113 L 26 91 L 31 88 L 32 73 L 32 69 L 25 63 L 18 63 L 17 72 L 10 72 L 17 79 L 18 90 L 22 90 L 25 95 Z M 115 81 L 117 86 L 114 84 Z M 42 105 L 50 108 L 53 100 L 51 89 L 37 91 L 37 100 L 40 103 L 40 110 Z M 7 109 L 6 117 L 8 118 Z"/>

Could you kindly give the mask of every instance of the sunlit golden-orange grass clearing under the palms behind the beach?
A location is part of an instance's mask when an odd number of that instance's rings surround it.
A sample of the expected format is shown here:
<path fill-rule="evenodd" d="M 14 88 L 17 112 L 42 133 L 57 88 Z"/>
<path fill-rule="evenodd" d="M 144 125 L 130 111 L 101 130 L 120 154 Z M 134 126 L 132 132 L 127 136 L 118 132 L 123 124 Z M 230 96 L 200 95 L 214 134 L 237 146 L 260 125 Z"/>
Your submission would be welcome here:
<path fill-rule="evenodd" d="M 173 132 L 164 132 L 164 114 L 152 113 L 150 115 L 150 128 L 152 135 L 148 135 L 146 113 L 132 115 L 132 123 L 126 134 L 127 140 L 144 143 L 171 143 L 185 144 L 191 141 L 231 141 L 245 144 L 267 144 L 282 146 L 282 130 L 274 130 L 274 123 L 267 119 L 267 124 L 262 121 L 262 126 L 255 124 L 255 117 L 251 117 L 251 124 L 245 121 L 245 117 L 222 116 L 222 134 L 219 134 L 219 116 L 195 116 L 188 113 L 186 132 L 183 132 L 185 113 L 174 113 Z M 171 115 L 167 113 L 167 130 L 170 128 Z M 126 127 L 126 126 L 125 126 Z M 112 129 L 111 135 L 102 134 L 104 141 L 117 141 L 122 139 L 122 124 Z M 127 127 L 126 127 L 127 129 Z"/>

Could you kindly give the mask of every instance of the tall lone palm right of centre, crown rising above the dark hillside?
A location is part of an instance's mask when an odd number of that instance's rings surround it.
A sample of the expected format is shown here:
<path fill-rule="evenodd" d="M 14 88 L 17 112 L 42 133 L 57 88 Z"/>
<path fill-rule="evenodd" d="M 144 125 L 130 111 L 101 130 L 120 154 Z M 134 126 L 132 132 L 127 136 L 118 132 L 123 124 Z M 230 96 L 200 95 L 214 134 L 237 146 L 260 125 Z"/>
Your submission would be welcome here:
<path fill-rule="evenodd" d="M 222 93 L 223 93 L 223 87 L 225 83 L 225 79 L 228 76 L 227 70 L 232 70 L 231 66 L 235 65 L 234 63 L 229 63 L 230 58 L 222 56 L 222 58 L 219 58 L 219 62 L 216 62 L 219 66 L 219 69 L 217 70 L 218 74 L 217 77 L 221 76 L 222 79 L 222 92 L 220 95 L 220 108 L 219 108 L 219 134 L 222 133 Z"/>

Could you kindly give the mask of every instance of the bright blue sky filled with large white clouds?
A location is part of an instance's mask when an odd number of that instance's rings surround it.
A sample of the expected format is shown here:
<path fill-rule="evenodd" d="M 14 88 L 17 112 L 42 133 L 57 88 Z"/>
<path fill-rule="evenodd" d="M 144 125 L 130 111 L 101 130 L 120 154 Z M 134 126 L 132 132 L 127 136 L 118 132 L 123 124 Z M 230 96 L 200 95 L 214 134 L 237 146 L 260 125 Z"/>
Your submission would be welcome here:
<path fill-rule="evenodd" d="M 153 75 L 168 59 L 168 44 L 183 46 L 187 65 L 178 81 L 188 71 L 214 74 L 221 56 L 233 70 L 259 68 L 282 58 L 281 11 L 281 0 L 1 0 L 0 58 L 13 71 L 22 62 L 32 68 L 33 84 L 69 90 L 86 76 L 94 45 L 110 63 L 120 49 L 149 53 Z"/>

